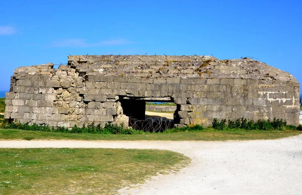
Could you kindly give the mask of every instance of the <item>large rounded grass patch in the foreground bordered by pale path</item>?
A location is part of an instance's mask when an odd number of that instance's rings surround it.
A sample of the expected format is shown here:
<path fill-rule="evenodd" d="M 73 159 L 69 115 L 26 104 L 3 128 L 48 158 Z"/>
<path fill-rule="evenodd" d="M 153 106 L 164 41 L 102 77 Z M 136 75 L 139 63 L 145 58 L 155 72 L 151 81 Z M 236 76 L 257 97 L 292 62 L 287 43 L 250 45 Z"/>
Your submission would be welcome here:
<path fill-rule="evenodd" d="M 0 149 L 1 194 L 116 194 L 190 159 L 165 150 Z"/>

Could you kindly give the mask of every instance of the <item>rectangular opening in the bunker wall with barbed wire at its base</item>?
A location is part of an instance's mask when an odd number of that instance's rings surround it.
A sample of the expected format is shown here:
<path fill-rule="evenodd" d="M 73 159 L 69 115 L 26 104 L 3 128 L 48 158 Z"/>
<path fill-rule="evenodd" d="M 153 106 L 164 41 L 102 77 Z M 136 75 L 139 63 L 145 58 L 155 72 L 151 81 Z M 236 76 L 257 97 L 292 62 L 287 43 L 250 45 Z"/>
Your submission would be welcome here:
<path fill-rule="evenodd" d="M 122 100 L 121 106 L 124 115 L 129 117 L 128 126 L 136 130 L 163 132 L 179 123 L 180 106 L 172 101 L 160 104 L 156 100 Z"/>

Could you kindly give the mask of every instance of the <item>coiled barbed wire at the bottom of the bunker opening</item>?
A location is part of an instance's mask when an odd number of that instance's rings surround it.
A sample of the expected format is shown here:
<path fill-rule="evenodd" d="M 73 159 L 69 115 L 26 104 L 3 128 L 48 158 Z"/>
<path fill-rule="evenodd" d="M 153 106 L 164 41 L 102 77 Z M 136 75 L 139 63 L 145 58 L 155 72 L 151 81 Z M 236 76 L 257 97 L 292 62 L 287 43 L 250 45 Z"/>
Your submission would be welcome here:
<path fill-rule="evenodd" d="M 132 129 L 157 133 L 164 132 L 167 129 L 172 129 L 174 127 L 174 121 L 173 119 L 165 117 L 147 118 L 145 120 L 138 120 L 129 117 L 129 126 L 132 127 Z"/>

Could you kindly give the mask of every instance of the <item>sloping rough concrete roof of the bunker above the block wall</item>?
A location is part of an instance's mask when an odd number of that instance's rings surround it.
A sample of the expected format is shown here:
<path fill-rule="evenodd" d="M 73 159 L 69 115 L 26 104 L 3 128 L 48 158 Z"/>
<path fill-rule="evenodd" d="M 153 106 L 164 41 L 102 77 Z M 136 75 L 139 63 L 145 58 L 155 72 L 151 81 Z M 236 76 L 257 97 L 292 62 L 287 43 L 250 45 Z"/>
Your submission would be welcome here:
<path fill-rule="evenodd" d="M 68 65 L 89 74 L 181 77 L 250 78 L 297 82 L 288 72 L 252 58 L 218 60 L 212 56 L 74 55 Z"/>

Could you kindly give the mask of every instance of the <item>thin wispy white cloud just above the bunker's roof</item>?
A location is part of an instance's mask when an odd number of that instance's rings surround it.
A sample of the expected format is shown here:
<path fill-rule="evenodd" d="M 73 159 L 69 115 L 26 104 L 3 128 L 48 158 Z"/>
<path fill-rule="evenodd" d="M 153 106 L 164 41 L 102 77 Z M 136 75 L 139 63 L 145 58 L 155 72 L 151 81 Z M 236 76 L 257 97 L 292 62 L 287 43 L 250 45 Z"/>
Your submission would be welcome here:
<path fill-rule="evenodd" d="M 98 46 L 110 46 L 110 45 L 124 45 L 131 44 L 133 42 L 127 39 L 113 39 L 107 41 L 101 41 L 96 43 L 87 43 L 85 39 L 61 39 L 53 42 L 53 47 L 98 47 Z"/>

